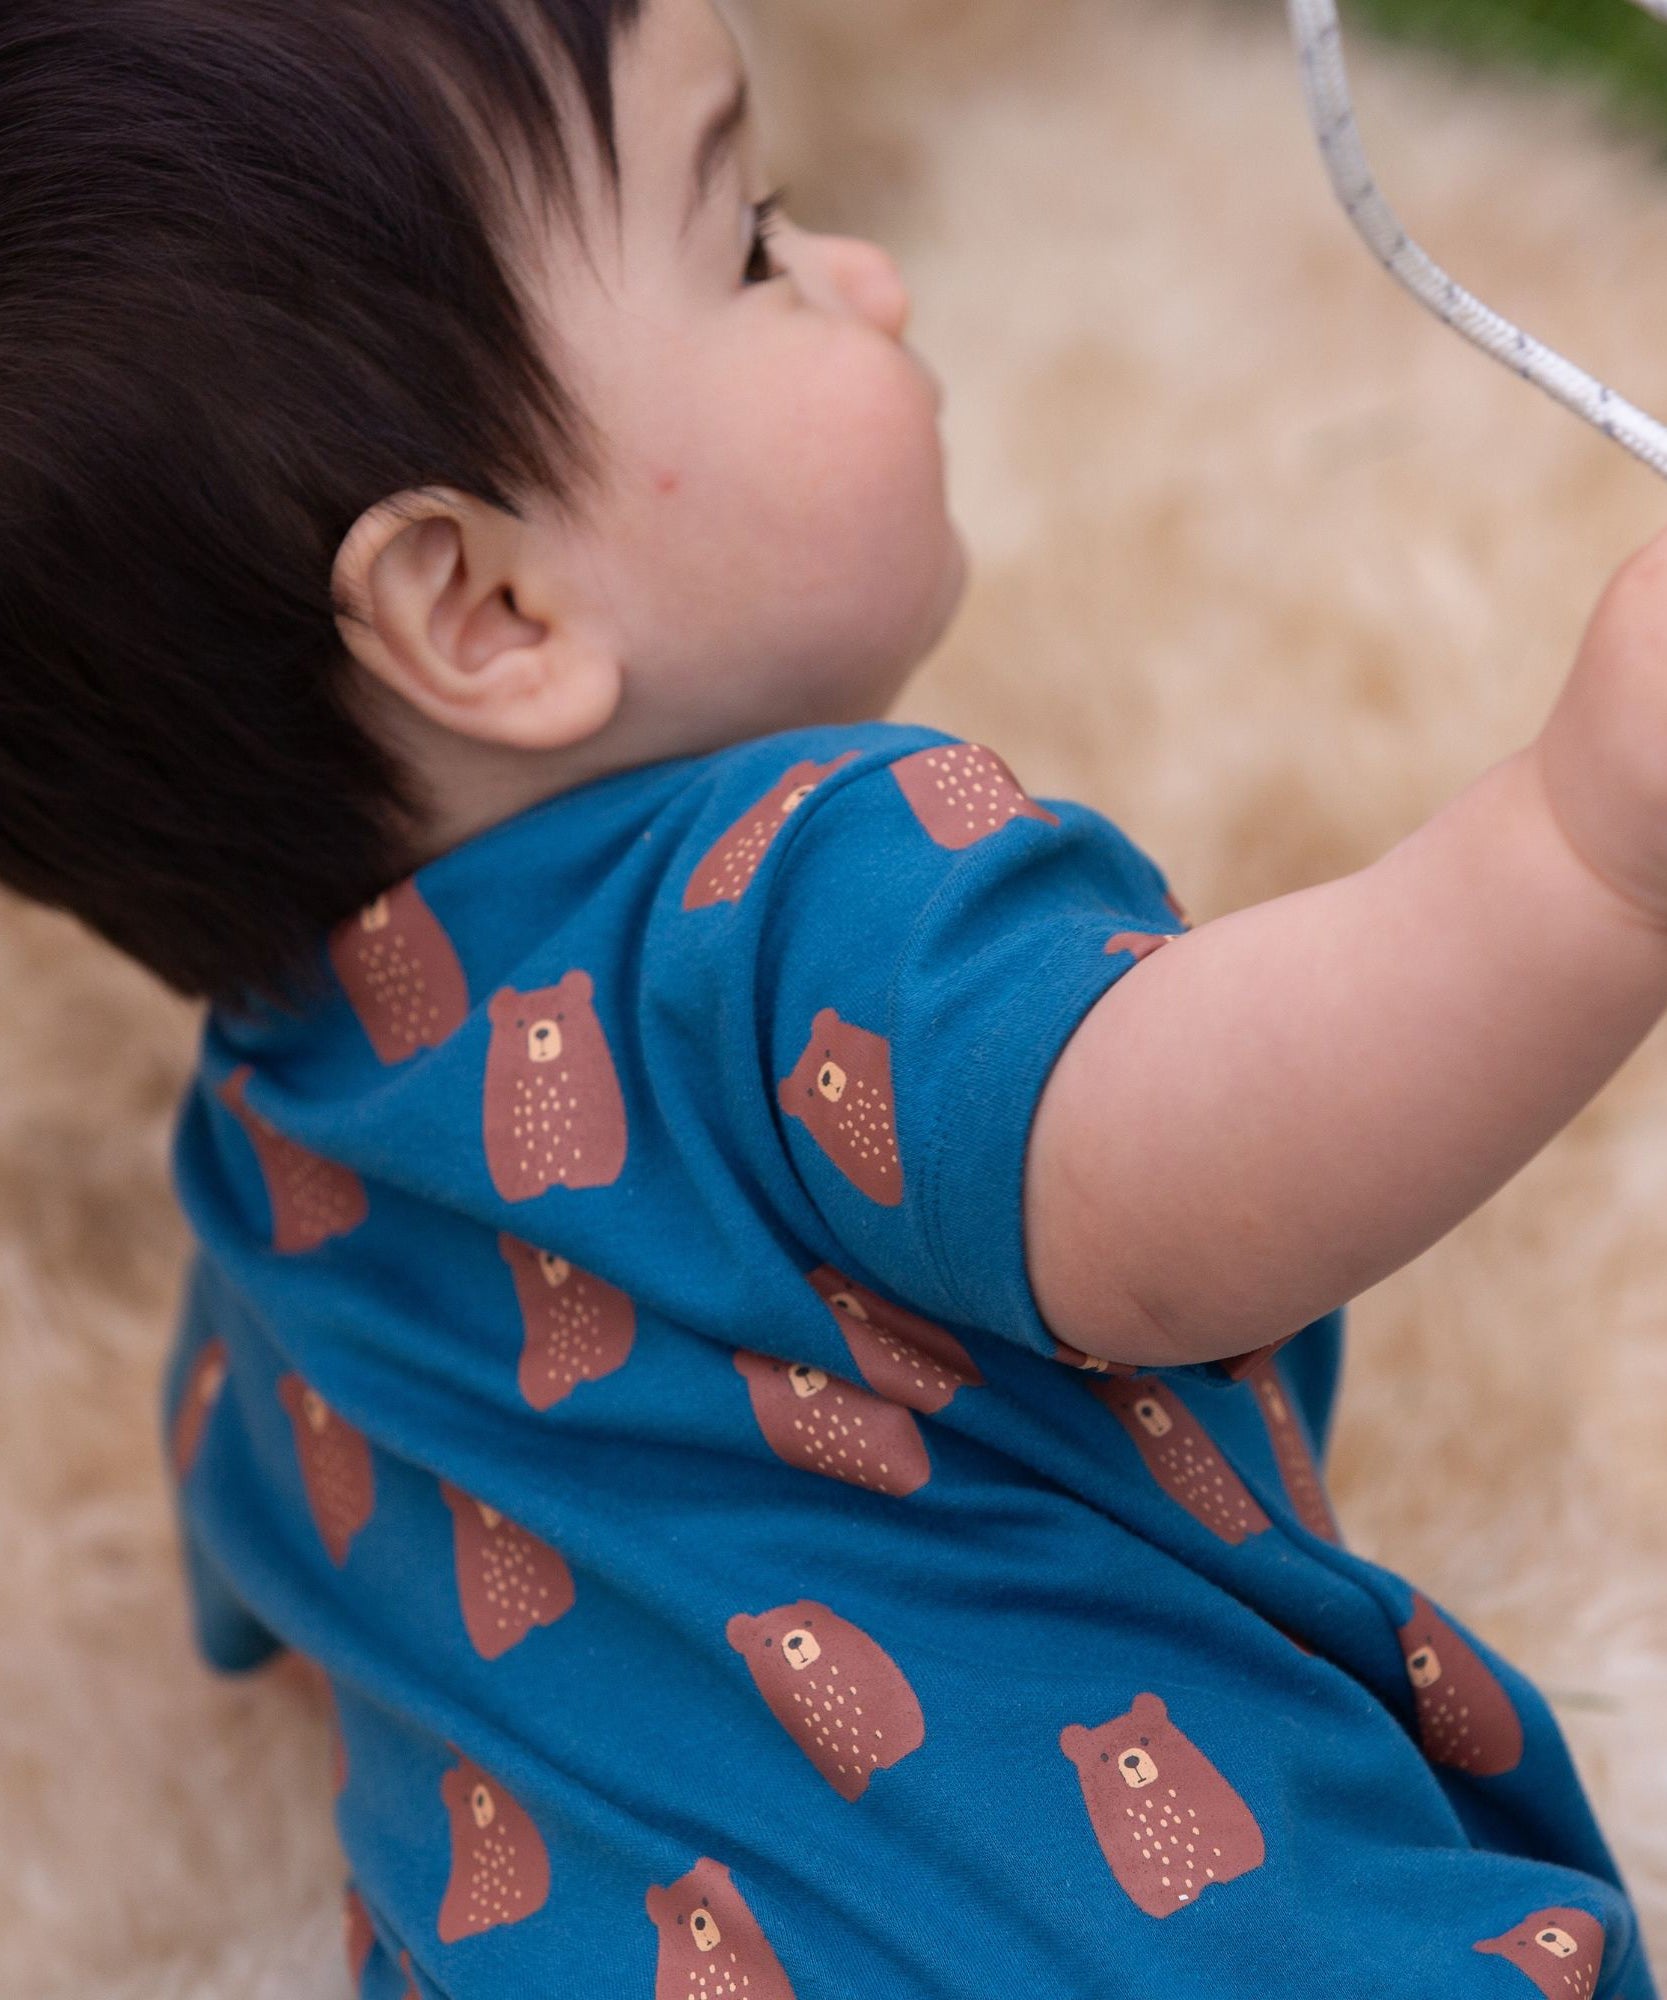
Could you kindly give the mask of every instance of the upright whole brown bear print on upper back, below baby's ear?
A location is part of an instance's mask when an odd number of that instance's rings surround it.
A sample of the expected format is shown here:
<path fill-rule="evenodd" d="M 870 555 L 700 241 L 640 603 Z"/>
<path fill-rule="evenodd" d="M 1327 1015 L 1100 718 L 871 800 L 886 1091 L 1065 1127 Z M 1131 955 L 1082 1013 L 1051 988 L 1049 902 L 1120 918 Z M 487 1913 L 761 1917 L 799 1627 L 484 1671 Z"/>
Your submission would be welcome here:
<path fill-rule="evenodd" d="M 486 1164 L 506 1202 L 608 1188 L 624 1172 L 626 1100 L 594 994 L 588 972 L 570 972 L 542 992 L 492 996 Z"/>

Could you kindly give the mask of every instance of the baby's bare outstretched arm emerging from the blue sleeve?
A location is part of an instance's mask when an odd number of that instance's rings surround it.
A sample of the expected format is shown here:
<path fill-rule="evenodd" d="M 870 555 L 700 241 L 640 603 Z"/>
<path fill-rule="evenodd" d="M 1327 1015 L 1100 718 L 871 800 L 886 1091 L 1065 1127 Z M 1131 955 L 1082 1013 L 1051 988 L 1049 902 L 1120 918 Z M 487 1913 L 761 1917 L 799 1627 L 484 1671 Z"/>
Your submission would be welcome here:
<path fill-rule="evenodd" d="M 1029 1272 L 1141 1366 L 1277 1340 L 1485 1202 L 1667 1010 L 1667 538 L 1543 736 L 1361 874 L 1129 972 L 1043 1092 Z"/>

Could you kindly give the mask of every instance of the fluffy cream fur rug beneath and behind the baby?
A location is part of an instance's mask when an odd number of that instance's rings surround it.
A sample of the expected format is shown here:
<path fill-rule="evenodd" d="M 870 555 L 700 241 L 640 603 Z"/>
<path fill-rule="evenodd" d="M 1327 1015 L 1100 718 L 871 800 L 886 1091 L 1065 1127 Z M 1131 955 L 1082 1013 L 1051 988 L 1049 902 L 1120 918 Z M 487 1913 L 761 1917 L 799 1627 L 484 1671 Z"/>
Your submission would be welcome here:
<path fill-rule="evenodd" d="M 979 578 L 907 720 L 1121 820 L 1199 916 L 1363 864 L 1537 728 L 1667 494 L 1355 246 L 1273 0 L 760 12 L 798 210 L 901 254 L 951 390 Z M 1357 80 L 1429 246 L 1667 404 L 1649 150 L 1433 60 Z M 172 1544 L 196 1016 L 4 906 L 0 1018 L 0 1992 L 338 2000 L 324 1714 L 196 1664 Z M 1667 1964 L 1663 1214 L 1657 1036 L 1359 1306 L 1333 1474 L 1353 1544 L 1553 1694 Z"/>

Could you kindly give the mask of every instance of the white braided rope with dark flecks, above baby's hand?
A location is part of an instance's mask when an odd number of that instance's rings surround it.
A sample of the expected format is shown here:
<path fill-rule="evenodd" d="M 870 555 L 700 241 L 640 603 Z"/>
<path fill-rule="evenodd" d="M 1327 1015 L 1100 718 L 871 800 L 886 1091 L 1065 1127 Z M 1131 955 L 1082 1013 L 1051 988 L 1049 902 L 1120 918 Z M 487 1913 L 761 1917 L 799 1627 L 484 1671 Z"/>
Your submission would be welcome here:
<path fill-rule="evenodd" d="M 1349 78 L 1343 68 L 1343 30 L 1335 0 L 1287 0 L 1291 30 L 1303 58 L 1303 94 L 1331 186 L 1373 256 L 1429 310 L 1485 354 L 1505 362 L 1547 396 L 1625 444 L 1629 452 L 1667 478 L 1667 426 L 1633 408 L 1613 388 L 1565 360 L 1485 306 L 1447 276 L 1401 228 L 1377 192 L 1361 146 Z M 1667 20 L 1667 0 L 1633 0 L 1633 6 Z"/>

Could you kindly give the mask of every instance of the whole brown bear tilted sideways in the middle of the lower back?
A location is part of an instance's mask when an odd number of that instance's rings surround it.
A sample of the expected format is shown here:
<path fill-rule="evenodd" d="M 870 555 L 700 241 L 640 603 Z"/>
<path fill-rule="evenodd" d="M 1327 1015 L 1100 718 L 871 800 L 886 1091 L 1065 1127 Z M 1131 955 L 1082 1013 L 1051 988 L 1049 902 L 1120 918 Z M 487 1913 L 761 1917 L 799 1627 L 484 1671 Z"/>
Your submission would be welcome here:
<path fill-rule="evenodd" d="M 897 1662 L 826 1604 L 800 1600 L 724 1628 L 772 1716 L 834 1786 L 861 1798 L 877 1770 L 925 1742 L 925 1718 Z"/>

